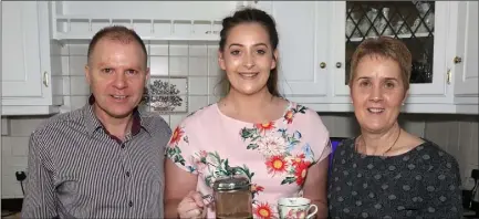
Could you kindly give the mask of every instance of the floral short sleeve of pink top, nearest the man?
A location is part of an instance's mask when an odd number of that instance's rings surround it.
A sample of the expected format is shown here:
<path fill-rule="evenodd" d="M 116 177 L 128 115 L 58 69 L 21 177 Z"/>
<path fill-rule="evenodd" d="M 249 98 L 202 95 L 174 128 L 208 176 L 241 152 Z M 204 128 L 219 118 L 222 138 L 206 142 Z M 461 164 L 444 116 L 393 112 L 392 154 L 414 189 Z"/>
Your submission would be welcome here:
<path fill-rule="evenodd" d="M 191 144 L 190 138 L 190 133 L 185 123 L 179 124 L 171 134 L 165 156 L 181 169 L 197 174 L 197 161 L 194 158 L 196 149 L 192 148 L 194 144 Z"/>

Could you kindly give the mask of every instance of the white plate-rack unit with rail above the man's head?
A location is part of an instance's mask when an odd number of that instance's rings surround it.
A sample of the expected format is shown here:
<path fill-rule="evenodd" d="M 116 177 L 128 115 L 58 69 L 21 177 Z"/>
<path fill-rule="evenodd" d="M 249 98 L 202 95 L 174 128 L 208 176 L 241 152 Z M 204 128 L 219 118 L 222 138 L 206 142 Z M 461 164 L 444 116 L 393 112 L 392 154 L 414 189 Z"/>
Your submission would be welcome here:
<path fill-rule="evenodd" d="M 53 39 L 90 40 L 121 24 L 145 41 L 218 41 L 221 20 L 242 1 L 53 1 Z M 134 9 L 134 10 L 132 10 Z"/>

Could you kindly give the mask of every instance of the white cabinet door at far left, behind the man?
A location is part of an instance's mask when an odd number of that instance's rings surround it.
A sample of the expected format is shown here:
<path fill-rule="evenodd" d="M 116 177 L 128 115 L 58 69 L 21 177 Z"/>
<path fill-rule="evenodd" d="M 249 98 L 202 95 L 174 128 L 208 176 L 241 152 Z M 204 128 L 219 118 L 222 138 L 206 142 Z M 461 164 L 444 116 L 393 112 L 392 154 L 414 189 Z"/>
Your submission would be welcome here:
<path fill-rule="evenodd" d="M 41 97 L 38 2 L 2 2 L 2 98 Z"/>

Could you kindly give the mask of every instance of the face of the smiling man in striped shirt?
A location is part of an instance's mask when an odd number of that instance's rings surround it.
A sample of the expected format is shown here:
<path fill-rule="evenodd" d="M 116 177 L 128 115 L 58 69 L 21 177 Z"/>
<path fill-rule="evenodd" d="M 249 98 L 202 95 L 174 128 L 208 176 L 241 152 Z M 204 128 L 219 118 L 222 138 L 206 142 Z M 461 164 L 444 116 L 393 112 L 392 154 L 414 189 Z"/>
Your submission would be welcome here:
<path fill-rule="evenodd" d="M 136 41 L 101 39 L 85 66 L 97 113 L 128 116 L 139 104 L 149 76 L 146 56 Z"/>

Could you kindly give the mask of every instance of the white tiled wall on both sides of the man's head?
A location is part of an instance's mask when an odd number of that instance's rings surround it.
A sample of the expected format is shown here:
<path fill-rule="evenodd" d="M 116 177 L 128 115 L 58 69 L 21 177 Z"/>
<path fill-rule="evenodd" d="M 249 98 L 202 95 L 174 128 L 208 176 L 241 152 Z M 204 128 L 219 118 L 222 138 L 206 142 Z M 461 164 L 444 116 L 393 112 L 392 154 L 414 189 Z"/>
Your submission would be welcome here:
<path fill-rule="evenodd" d="M 220 94 L 220 71 L 217 64 L 217 44 L 195 43 L 146 43 L 150 79 L 167 80 L 177 85 L 185 107 L 179 113 L 163 115 L 170 124 L 176 125 L 188 112 L 198 109 L 208 103 L 216 102 Z M 67 112 L 84 105 L 90 94 L 85 83 L 84 65 L 86 63 L 87 42 L 65 44 L 62 49 L 64 107 Z M 169 80 L 168 80 L 169 79 Z M 185 83 L 186 82 L 186 83 Z"/>

